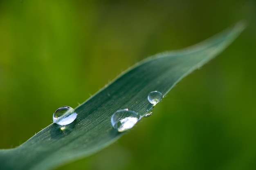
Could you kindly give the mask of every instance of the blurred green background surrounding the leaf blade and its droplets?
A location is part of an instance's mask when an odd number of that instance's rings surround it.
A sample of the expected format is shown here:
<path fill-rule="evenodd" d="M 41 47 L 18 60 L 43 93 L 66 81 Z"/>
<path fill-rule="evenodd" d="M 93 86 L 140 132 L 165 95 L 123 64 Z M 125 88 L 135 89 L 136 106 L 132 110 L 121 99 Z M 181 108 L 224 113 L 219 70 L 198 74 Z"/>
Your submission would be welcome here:
<path fill-rule="evenodd" d="M 121 71 L 247 29 L 112 146 L 58 170 L 256 169 L 256 1 L 0 1 L 0 148 L 13 148 Z"/>

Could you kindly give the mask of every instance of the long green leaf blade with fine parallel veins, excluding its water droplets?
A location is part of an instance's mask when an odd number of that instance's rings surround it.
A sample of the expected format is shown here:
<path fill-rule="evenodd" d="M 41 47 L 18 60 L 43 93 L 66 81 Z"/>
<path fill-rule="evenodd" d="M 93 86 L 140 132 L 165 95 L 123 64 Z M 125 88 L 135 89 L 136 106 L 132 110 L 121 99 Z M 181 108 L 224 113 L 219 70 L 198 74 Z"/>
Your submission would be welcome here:
<path fill-rule="evenodd" d="M 159 91 L 165 96 L 180 79 L 223 51 L 243 29 L 244 24 L 238 23 L 195 46 L 139 62 L 78 106 L 76 120 L 65 129 L 51 124 L 19 147 L 0 150 L 0 168 L 49 170 L 112 144 L 125 133 L 111 126 L 115 111 L 128 108 L 146 115 L 153 108 L 148 93 Z"/>

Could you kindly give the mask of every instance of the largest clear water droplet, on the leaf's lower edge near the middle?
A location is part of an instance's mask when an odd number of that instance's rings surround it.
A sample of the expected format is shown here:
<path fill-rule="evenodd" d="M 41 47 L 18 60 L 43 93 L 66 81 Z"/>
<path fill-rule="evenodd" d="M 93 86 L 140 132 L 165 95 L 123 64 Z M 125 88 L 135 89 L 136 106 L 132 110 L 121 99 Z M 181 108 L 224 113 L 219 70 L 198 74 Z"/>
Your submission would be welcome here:
<path fill-rule="evenodd" d="M 132 128 L 140 119 L 140 115 L 132 110 L 122 109 L 117 110 L 111 117 L 111 124 L 113 128 L 119 132 L 124 132 Z"/>

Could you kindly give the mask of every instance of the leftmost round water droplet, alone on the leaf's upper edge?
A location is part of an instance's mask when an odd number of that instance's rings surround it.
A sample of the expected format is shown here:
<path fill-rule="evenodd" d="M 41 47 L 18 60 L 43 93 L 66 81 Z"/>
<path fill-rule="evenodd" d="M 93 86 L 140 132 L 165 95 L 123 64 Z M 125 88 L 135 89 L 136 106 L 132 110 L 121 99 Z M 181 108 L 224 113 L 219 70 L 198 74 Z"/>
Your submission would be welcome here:
<path fill-rule="evenodd" d="M 53 116 L 53 122 L 58 125 L 67 125 L 71 124 L 76 119 L 76 112 L 75 110 L 70 106 L 63 106 L 58 108 Z"/>

